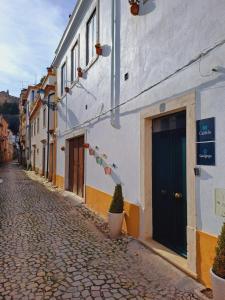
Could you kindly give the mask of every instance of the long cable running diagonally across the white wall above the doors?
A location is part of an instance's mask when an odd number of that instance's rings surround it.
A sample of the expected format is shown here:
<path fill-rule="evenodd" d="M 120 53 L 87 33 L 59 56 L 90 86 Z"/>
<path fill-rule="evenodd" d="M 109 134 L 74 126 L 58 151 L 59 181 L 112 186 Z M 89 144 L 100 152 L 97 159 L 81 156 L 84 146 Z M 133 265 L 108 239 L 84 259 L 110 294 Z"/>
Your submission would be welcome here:
<path fill-rule="evenodd" d="M 185 70 L 186 68 L 188 68 L 189 66 L 193 65 L 194 63 L 200 61 L 203 57 L 207 56 L 210 52 L 212 52 L 213 50 L 215 50 L 218 47 L 221 47 L 225 44 L 225 39 L 223 39 L 220 42 L 217 42 L 214 44 L 214 46 L 206 49 L 205 51 L 201 52 L 200 54 L 198 54 L 195 58 L 191 59 L 188 63 L 186 63 L 185 65 L 183 65 L 182 67 L 178 68 L 176 71 L 174 71 L 173 73 L 169 74 L 168 76 L 164 77 L 163 79 L 157 81 L 156 83 L 154 83 L 153 85 L 149 86 L 148 88 L 144 89 L 143 91 L 141 91 L 140 93 L 138 93 L 137 95 L 129 98 L 128 100 L 116 105 L 113 108 L 108 109 L 105 112 L 102 112 L 101 114 L 99 114 L 98 116 L 95 116 L 93 118 L 90 118 L 86 121 L 84 121 L 83 123 L 76 125 L 72 128 L 70 128 L 69 130 L 66 130 L 62 135 L 60 136 L 64 136 L 66 134 L 68 134 L 70 131 L 73 131 L 74 129 L 79 129 L 82 128 L 84 125 L 91 123 L 92 121 L 95 121 L 97 119 L 99 119 L 102 116 L 107 115 L 108 113 L 126 105 L 127 103 L 130 103 L 132 101 L 134 101 L 135 99 L 137 99 L 139 96 L 143 95 L 144 93 L 148 92 L 149 90 L 155 88 L 156 86 L 160 85 L 161 83 L 167 81 L 168 79 L 172 78 L 173 76 L 177 75 L 178 73 L 182 72 L 183 70 Z M 200 74 L 201 75 L 201 74 Z M 208 76 L 207 76 L 208 77 Z"/>

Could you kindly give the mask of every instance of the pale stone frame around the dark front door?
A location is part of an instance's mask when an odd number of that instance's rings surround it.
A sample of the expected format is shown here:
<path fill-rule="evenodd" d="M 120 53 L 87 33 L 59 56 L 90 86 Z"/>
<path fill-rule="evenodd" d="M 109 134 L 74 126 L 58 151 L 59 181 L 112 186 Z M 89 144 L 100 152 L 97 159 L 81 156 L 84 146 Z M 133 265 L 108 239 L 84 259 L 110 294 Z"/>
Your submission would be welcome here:
<path fill-rule="evenodd" d="M 186 111 L 186 180 L 187 180 L 187 268 L 196 274 L 196 116 L 195 91 L 157 102 L 140 115 L 140 239 L 152 240 L 152 120 L 179 111 Z M 168 249 L 169 251 L 169 249 Z M 174 262 L 175 263 L 175 262 Z"/>

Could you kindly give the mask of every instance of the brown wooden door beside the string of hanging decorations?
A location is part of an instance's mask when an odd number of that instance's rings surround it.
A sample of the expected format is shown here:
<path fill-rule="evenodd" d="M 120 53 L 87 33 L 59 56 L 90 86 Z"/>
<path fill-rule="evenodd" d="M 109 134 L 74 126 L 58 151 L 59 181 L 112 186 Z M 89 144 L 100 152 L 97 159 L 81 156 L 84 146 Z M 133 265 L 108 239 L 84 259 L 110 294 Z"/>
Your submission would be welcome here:
<path fill-rule="evenodd" d="M 84 196 L 84 136 L 69 141 L 69 190 Z"/>

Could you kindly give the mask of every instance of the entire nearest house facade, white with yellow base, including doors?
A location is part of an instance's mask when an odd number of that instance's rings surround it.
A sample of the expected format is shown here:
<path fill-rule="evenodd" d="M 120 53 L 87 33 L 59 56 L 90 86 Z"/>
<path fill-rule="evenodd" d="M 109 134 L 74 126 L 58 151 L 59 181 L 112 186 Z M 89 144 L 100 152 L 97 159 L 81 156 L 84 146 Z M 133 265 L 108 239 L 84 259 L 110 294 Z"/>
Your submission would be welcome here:
<path fill-rule="evenodd" d="M 224 54 L 222 0 L 143 0 L 137 16 L 80 0 L 53 62 L 57 184 L 106 216 L 122 183 L 127 232 L 207 286 L 225 217 Z"/>

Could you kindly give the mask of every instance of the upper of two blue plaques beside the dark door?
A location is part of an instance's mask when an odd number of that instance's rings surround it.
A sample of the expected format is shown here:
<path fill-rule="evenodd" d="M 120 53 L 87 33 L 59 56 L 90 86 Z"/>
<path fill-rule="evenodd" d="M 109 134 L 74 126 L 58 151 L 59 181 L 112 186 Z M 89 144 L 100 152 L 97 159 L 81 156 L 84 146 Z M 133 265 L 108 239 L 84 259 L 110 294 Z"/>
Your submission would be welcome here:
<path fill-rule="evenodd" d="M 215 141 L 215 118 L 197 121 L 197 142 Z"/>

